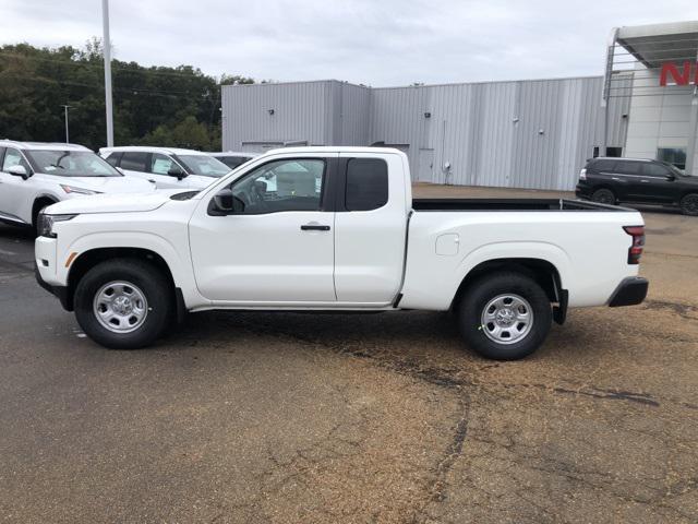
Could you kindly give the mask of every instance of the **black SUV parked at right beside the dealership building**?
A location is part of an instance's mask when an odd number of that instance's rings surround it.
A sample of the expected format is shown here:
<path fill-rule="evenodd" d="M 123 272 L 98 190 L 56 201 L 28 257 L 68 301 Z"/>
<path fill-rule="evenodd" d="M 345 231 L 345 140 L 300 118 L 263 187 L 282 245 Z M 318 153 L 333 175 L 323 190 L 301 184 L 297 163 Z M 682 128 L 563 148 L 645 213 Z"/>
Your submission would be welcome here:
<path fill-rule="evenodd" d="M 698 215 L 698 177 L 661 160 L 591 158 L 579 174 L 576 194 L 603 204 L 674 205 Z"/>

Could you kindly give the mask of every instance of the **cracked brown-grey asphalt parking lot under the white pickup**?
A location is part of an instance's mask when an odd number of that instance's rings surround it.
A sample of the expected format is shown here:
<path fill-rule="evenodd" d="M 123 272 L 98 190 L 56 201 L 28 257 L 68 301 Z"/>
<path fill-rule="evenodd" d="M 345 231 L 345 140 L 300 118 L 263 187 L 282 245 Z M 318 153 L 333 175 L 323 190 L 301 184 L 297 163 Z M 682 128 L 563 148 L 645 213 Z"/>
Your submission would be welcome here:
<path fill-rule="evenodd" d="M 0 226 L 0 521 L 697 522 L 698 218 L 642 211 L 648 300 L 518 362 L 428 312 L 198 313 L 106 350 Z"/>

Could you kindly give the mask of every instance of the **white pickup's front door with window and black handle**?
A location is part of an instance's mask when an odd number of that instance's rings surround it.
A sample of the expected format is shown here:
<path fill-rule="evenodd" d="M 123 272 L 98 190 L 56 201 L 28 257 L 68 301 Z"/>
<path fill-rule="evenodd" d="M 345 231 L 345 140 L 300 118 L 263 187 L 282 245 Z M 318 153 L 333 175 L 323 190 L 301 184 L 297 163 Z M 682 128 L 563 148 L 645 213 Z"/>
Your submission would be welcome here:
<path fill-rule="evenodd" d="M 224 216 L 210 214 L 213 194 L 202 200 L 189 236 L 204 297 L 218 305 L 270 307 L 336 300 L 335 213 L 324 211 L 323 198 L 332 164 L 320 154 L 251 168 L 226 188 L 236 211 Z"/>

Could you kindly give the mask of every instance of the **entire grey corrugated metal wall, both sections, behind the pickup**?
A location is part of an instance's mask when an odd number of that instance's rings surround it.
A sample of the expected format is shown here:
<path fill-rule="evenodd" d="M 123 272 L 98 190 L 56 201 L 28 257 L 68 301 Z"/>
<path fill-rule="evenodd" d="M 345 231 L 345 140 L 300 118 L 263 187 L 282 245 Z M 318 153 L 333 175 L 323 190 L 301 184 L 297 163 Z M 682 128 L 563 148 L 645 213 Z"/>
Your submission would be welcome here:
<path fill-rule="evenodd" d="M 603 143 L 602 85 L 594 76 L 373 90 L 336 81 L 225 86 L 224 147 L 382 143 L 408 154 L 416 181 L 570 190 Z M 625 145 L 628 110 L 628 98 L 611 100 L 607 145 Z"/>

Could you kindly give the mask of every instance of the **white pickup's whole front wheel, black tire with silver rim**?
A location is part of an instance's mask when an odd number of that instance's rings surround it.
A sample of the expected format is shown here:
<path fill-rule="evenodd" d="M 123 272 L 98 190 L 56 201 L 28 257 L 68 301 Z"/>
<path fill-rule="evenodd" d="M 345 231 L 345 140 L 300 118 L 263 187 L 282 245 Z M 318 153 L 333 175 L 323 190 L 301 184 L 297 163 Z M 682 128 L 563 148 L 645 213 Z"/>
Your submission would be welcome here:
<path fill-rule="evenodd" d="M 83 331 L 110 349 L 152 344 L 168 325 L 172 289 L 152 264 L 115 259 L 91 269 L 75 289 L 75 317 Z"/>

